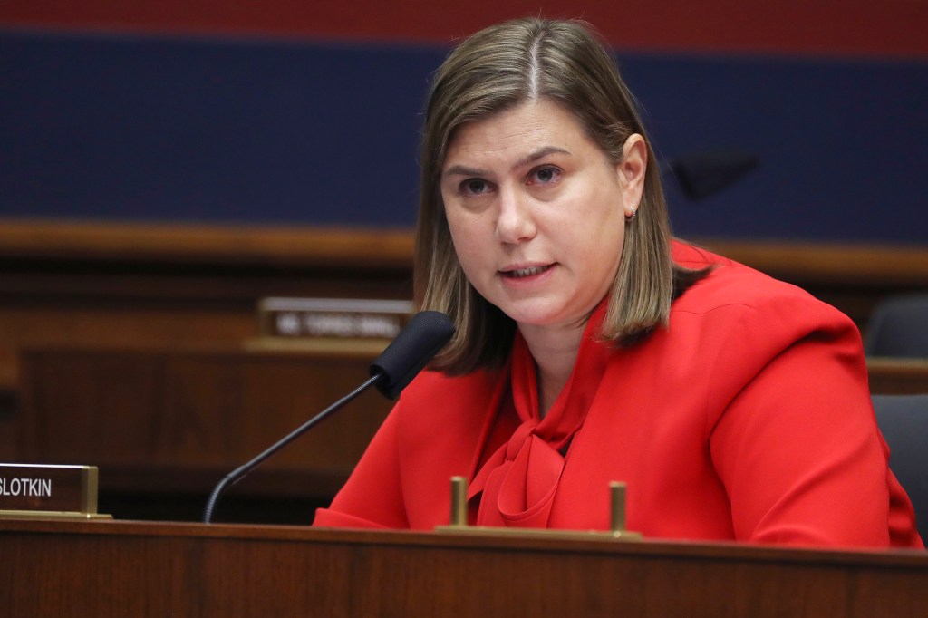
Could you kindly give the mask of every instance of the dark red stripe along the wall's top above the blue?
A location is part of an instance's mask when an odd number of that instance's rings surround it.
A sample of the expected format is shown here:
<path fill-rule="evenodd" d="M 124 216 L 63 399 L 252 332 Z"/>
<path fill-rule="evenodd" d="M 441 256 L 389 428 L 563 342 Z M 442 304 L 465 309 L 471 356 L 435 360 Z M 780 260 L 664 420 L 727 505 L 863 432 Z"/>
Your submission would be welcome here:
<path fill-rule="evenodd" d="M 65 30 L 236 34 L 447 44 L 511 17 L 582 17 L 619 49 L 928 58 L 926 0 L 36 0 L 0 24 Z"/>

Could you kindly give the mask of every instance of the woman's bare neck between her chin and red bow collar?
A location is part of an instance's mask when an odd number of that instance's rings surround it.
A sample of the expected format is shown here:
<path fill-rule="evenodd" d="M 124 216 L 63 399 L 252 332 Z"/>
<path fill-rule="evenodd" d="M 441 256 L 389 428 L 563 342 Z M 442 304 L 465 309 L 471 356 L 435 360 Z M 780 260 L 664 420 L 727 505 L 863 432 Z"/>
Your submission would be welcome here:
<path fill-rule="evenodd" d="M 574 371 L 585 324 L 557 330 L 520 325 L 522 337 L 535 359 L 538 376 L 538 413 L 544 417 Z"/>

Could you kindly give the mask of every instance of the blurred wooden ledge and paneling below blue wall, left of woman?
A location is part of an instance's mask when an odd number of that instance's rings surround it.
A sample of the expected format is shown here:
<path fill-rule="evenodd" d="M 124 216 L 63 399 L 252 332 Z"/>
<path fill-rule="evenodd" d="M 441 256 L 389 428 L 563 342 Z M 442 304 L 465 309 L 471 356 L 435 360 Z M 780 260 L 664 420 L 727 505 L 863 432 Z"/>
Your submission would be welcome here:
<path fill-rule="evenodd" d="M 0 222 L 0 390 L 32 345 L 239 343 L 267 296 L 408 299 L 390 230 Z"/>

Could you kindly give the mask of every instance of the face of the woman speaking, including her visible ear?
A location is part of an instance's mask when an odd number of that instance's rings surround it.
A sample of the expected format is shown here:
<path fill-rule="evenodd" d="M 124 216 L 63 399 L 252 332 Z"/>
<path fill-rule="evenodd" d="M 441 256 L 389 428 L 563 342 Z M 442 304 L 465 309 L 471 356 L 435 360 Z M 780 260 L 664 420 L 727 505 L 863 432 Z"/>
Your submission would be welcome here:
<path fill-rule="evenodd" d="M 441 190 L 470 284 L 520 328 L 582 324 L 612 286 L 646 165 L 640 135 L 616 164 L 546 98 L 462 125 Z"/>

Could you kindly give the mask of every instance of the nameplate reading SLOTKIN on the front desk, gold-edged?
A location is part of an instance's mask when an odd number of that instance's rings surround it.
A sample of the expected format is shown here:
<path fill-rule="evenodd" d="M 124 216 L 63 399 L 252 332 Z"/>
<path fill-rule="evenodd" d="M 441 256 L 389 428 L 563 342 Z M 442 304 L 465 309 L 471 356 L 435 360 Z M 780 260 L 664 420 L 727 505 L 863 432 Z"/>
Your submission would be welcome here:
<path fill-rule="evenodd" d="M 97 513 L 96 466 L 0 464 L 0 518 L 110 519 Z"/>

